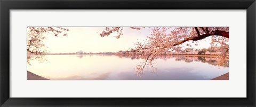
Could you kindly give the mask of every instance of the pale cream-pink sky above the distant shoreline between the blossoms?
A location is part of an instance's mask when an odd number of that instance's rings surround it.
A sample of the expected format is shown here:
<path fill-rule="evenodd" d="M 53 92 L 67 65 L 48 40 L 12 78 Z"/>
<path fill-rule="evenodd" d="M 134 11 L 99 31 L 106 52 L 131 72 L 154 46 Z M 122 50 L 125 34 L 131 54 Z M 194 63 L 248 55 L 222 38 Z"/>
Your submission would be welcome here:
<path fill-rule="evenodd" d="M 59 35 L 46 35 L 44 43 L 47 50 L 50 53 L 66 53 L 77 52 L 82 50 L 83 52 L 117 52 L 125 51 L 129 48 L 134 48 L 134 43 L 137 40 L 146 40 L 147 35 L 150 34 L 151 28 L 145 28 L 141 30 L 133 30 L 129 27 L 124 27 L 123 35 L 119 39 L 116 39 L 114 35 L 108 37 L 100 37 L 100 34 L 105 27 L 64 27 L 69 29 L 67 36 Z M 202 40 L 198 43 L 198 46 L 192 46 L 195 49 L 209 48 L 210 39 Z M 186 43 L 183 43 L 183 49 L 188 48 Z M 194 44 L 191 43 L 190 44 Z M 191 47 L 190 47 L 191 48 Z"/>

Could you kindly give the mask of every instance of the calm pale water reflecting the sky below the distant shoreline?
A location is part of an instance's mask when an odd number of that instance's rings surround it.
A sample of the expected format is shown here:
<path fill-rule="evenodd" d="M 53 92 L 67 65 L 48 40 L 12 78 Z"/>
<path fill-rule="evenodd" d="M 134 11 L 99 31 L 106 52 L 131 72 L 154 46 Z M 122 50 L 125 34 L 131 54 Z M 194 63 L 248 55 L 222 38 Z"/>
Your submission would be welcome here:
<path fill-rule="evenodd" d="M 228 63 L 217 66 L 215 57 L 158 56 L 144 74 L 136 74 L 143 62 L 138 56 L 126 55 L 49 55 L 48 61 L 32 60 L 28 71 L 58 80 L 209 80 L 228 73 Z"/>

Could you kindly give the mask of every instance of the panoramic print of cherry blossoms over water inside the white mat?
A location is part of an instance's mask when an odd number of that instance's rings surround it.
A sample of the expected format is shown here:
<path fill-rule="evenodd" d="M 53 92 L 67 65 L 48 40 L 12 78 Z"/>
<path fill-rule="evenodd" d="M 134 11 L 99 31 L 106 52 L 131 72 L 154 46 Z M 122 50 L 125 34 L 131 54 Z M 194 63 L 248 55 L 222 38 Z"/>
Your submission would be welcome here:
<path fill-rule="evenodd" d="M 28 26 L 27 80 L 229 80 L 229 27 Z"/>

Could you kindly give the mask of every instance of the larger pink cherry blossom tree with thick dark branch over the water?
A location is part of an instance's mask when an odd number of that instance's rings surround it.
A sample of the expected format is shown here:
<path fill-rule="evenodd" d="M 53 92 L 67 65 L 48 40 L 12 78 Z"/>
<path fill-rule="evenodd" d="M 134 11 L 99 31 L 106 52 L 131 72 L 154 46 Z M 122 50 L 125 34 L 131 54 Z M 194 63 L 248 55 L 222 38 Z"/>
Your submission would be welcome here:
<path fill-rule="evenodd" d="M 131 29 L 141 30 L 145 27 L 130 27 Z M 117 39 L 123 35 L 123 27 L 106 27 L 100 33 L 101 37 L 109 36 L 111 33 L 116 33 Z M 205 38 L 211 38 L 211 47 L 220 46 L 221 54 L 219 54 L 219 64 L 223 63 L 228 58 L 229 52 L 229 28 L 228 27 L 152 27 L 151 34 L 143 42 L 135 43 L 133 54 L 141 53 L 145 60 L 137 66 L 137 74 L 143 74 L 143 69 L 146 66 L 151 66 L 155 56 L 162 55 L 166 51 L 182 51 L 181 48 L 187 41 L 192 41 L 194 45 L 198 45 Z M 187 43 L 186 46 L 192 46 Z"/>

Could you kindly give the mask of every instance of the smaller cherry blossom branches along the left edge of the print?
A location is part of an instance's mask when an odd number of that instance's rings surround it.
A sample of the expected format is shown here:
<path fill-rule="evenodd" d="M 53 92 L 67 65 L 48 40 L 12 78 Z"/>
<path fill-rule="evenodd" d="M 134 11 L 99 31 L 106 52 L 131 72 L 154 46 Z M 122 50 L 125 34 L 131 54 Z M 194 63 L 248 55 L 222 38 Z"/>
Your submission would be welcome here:
<path fill-rule="evenodd" d="M 58 37 L 60 33 L 68 31 L 68 29 L 61 27 L 27 27 L 27 63 L 30 65 L 30 60 L 37 59 L 42 62 L 45 59 L 44 55 L 47 53 L 44 39 L 45 35 L 52 34 Z M 67 35 L 63 33 L 63 35 Z"/>

